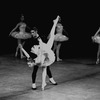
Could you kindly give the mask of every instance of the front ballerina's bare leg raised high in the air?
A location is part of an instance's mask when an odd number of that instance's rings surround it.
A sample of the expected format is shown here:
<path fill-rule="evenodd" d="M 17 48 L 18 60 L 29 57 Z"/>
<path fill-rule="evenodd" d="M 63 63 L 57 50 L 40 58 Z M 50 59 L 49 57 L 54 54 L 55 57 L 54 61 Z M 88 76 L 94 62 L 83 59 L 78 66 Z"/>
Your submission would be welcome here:
<path fill-rule="evenodd" d="M 52 46 L 53 46 L 53 42 L 54 42 L 54 33 L 55 33 L 55 28 L 56 28 L 56 25 L 57 25 L 57 23 L 58 23 L 58 21 L 59 21 L 59 16 L 57 16 L 57 18 L 54 20 L 54 25 L 53 25 L 53 27 L 52 27 L 52 29 L 51 29 L 51 31 L 50 31 L 50 38 L 49 38 L 49 40 L 48 40 L 48 42 L 47 42 L 47 45 L 49 46 L 49 48 L 51 49 L 52 48 Z"/>

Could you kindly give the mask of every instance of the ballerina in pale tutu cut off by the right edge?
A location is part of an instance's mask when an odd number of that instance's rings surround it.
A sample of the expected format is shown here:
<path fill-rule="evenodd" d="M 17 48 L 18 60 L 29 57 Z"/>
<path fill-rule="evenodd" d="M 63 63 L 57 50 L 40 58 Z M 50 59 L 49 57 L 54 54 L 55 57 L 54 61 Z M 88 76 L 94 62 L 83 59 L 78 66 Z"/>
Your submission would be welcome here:
<path fill-rule="evenodd" d="M 99 58 L 100 58 L 100 34 L 98 34 L 100 32 L 100 28 L 97 30 L 97 32 L 95 33 L 94 36 L 92 36 L 92 40 L 95 43 L 98 43 L 98 51 L 97 51 L 97 60 L 96 60 L 96 64 L 99 64 Z"/>

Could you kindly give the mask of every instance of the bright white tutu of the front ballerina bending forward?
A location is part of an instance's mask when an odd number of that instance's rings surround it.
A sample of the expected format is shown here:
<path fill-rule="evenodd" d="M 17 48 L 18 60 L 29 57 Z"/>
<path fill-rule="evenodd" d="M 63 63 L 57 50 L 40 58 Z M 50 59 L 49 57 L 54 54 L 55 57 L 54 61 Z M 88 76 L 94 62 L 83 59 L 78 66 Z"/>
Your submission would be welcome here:
<path fill-rule="evenodd" d="M 37 54 L 37 58 L 34 60 L 35 64 L 40 67 L 49 66 L 55 61 L 55 54 L 47 45 L 43 46 L 42 49 L 39 46 L 34 46 L 31 52 Z"/>

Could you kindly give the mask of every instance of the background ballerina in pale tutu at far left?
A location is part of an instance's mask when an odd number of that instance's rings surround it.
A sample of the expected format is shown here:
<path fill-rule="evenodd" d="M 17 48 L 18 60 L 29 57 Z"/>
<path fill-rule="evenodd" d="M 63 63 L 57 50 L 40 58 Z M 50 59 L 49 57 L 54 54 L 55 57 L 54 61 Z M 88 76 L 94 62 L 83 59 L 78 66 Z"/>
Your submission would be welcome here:
<path fill-rule="evenodd" d="M 16 25 L 16 27 L 10 32 L 9 35 L 11 35 L 12 37 L 16 38 L 17 39 L 17 48 L 16 48 L 16 53 L 15 53 L 15 57 L 17 57 L 18 55 L 18 50 L 20 51 L 20 55 L 21 55 L 21 59 L 24 58 L 24 54 L 22 52 L 22 50 L 20 49 L 19 45 L 22 44 L 22 46 L 24 46 L 25 42 L 22 43 L 22 39 L 27 39 L 27 38 L 31 38 L 31 34 L 30 33 L 27 33 L 25 31 L 26 29 L 26 23 L 23 22 L 24 20 L 24 16 L 22 15 L 21 16 L 21 22 L 18 23 Z M 15 31 L 17 28 L 19 27 L 19 32 Z"/>

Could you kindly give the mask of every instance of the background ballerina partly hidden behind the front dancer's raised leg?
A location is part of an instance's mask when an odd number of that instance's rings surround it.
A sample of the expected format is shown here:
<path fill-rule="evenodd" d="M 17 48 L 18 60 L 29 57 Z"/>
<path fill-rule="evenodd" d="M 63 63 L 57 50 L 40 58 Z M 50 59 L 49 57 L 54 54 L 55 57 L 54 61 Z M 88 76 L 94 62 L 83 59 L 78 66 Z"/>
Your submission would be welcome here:
<path fill-rule="evenodd" d="M 53 46 L 53 51 L 56 53 L 57 61 L 62 61 L 62 59 L 60 59 L 60 53 L 59 53 L 62 42 L 67 41 L 69 39 L 68 37 L 63 35 L 63 31 L 64 31 L 63 25 L 60 22 L 57 23 L 56 34 L 54 38 L 54 46 Z"/>

